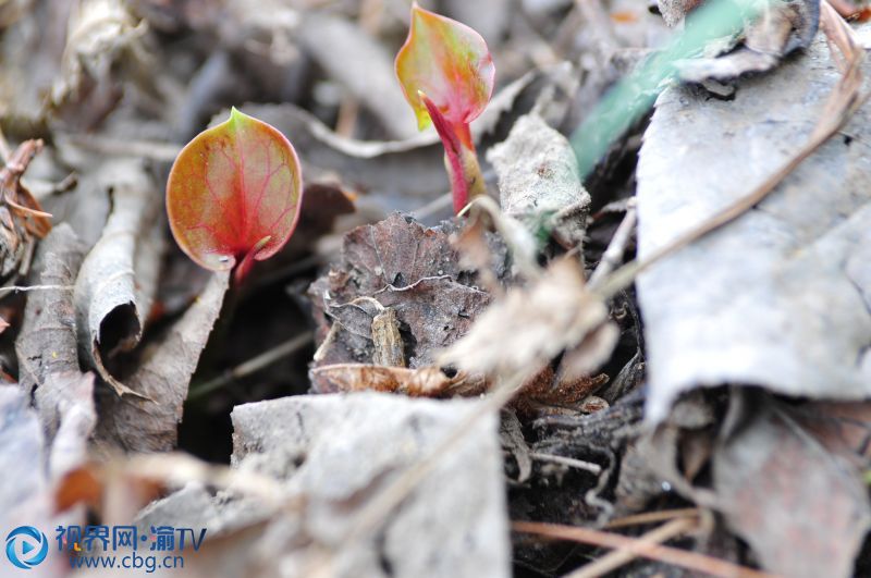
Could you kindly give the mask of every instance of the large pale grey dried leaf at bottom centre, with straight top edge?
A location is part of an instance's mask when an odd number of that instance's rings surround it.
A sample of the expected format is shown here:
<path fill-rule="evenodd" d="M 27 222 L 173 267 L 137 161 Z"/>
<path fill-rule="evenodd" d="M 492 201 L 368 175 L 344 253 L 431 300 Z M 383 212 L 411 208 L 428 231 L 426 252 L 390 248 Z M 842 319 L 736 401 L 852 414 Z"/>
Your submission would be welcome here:
<path fill-rule="evenodd" d="M 346 538 L 372 496 L 429 455 L 477 404 L 363 393 L 237 406 L 232 464 L 285 479 L 303 508 L 274 518 L 258 541 L 281 552 L 271 563 L 291 568 L 289 576 L 311 576 L 319 559 L 314 542 L 335 553 L 331 570 L 338 577 L 508 576 L 495 414 L 469 427 L 381 531 Z"/>

